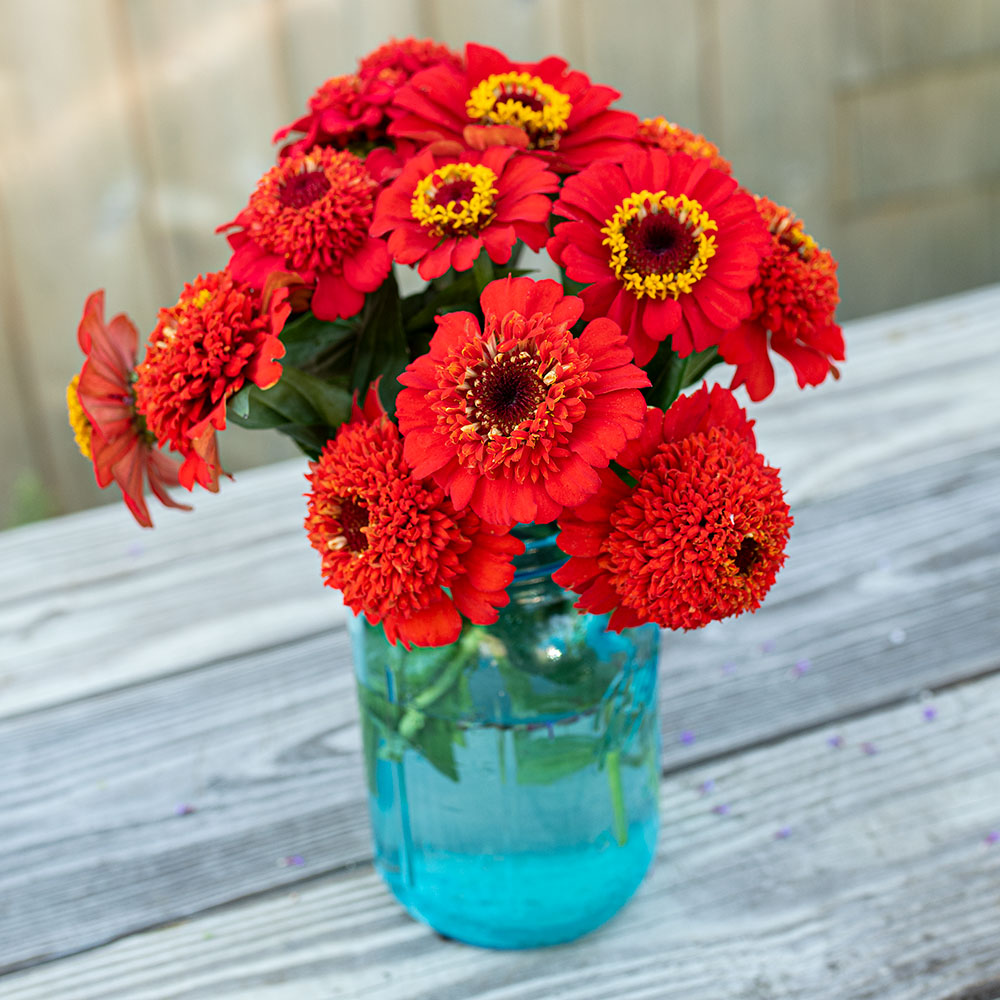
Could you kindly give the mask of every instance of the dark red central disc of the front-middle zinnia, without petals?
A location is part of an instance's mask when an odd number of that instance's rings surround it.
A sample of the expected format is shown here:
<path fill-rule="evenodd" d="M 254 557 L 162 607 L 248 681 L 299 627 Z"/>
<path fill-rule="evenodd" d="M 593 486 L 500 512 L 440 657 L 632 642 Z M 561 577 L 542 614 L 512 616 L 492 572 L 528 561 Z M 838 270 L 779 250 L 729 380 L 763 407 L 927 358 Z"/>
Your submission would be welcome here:
<path fill-rule="evenodd" d="M 528 351 L 498 354 L 467 381 L 466 415 L 480 437 L 509 437 L 535 415 L 548 390 L 538 377 L 538 359 Z"/>

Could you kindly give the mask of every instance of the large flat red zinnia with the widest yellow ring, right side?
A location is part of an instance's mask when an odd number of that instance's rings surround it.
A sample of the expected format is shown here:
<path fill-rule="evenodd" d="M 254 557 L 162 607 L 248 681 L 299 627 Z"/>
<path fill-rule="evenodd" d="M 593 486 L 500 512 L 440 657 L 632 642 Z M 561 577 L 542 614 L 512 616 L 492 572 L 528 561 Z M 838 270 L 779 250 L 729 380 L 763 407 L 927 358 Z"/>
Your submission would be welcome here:
<path fill-rule="evenodd" d="M 750 312 L 771 238 L 753 198 L 704 158 L 636 150 L 570 177 L 550 256 L 575 281 L 584 316 L 608 316 L 644 365 L 660 341 L 680 357 L 718 344 Z M 592 284 L 591 284 L 592 283 Z"/>

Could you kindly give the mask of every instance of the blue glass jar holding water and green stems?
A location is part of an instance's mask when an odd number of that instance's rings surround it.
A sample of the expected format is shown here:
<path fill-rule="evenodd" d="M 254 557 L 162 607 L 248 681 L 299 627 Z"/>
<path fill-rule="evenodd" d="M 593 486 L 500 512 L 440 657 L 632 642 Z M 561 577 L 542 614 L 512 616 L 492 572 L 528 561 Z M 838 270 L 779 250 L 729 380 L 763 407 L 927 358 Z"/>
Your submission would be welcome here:
<path fill-rule="evenodd" d="M 659 629 L 576 611 L 540 535 L 500 620 L 450 646 L 351 620 L 375 867 L 414 917 L 492 948 L 600 926 L 658 829 Z"/>

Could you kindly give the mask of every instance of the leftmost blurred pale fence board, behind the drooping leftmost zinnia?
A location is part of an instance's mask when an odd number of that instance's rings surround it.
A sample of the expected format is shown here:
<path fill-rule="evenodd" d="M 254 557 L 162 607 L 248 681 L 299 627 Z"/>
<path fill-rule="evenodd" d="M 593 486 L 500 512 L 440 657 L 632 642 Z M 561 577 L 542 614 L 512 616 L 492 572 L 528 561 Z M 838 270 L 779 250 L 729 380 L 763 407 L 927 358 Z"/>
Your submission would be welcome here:
<path fill-rule="evenodd" d="M 7 4 L 0 32 L 2 211 L 12 248 L 4 268 L 22 304 L 21 315 L 7 319 L 19 325 L 26 357 L 18 377 L 37 400 L 34 439 L 40 454 L 48 452 L 41 471 L 59 509 L 98 495 L 66 433 L 65 389 L 79 368 L 84 299 L 105 287 L 112 312 L 135 313 L 157 293 L 108 10 L 61 0 Z M 5 422 L 17 419 L 15 405 L 0 401 Z"/>

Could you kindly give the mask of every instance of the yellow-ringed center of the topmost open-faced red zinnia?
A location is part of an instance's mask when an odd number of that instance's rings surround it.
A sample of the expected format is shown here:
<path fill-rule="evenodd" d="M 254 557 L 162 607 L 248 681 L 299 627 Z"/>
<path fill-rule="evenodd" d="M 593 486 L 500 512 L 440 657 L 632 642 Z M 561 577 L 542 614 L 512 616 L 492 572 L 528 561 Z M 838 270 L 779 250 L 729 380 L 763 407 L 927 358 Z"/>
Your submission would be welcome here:
<path fill-rule="evenodd" d="M 493 73 L 473 88 L 465 110 L 481 125 L 515 125 L 536 147 L 555 148 L 573 105 L 562 91 L 530 73 Z"/>

